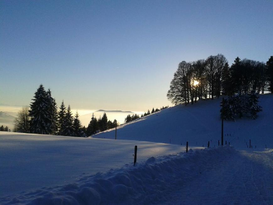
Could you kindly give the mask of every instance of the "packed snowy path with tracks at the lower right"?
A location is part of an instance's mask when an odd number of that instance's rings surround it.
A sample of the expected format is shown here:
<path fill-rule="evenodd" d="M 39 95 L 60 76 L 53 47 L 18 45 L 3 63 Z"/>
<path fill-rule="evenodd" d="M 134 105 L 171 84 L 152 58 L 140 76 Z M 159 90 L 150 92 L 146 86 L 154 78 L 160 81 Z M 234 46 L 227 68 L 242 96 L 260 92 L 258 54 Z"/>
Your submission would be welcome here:
<path fill-rule="evenodd" d="M 273 204 L 273 152 L 238 151 L 172 193 L 165 204 Z"/>

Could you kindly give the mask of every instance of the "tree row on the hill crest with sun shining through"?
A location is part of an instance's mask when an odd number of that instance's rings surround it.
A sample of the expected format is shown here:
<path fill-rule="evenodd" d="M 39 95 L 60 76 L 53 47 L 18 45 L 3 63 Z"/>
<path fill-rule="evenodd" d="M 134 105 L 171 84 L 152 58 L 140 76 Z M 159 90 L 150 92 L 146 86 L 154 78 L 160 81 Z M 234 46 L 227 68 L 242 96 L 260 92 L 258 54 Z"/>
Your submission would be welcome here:
<path fill-rule="evenodd" d="M 171 80 L 168 99 L 176 104 L 193 104 L 197 99 L 214 99 L 251 91 L 273 90 L 273 56 L 264 63 L 237 57 L 229 66 L 224 55 L 206 60 L 182 61 Z"/>

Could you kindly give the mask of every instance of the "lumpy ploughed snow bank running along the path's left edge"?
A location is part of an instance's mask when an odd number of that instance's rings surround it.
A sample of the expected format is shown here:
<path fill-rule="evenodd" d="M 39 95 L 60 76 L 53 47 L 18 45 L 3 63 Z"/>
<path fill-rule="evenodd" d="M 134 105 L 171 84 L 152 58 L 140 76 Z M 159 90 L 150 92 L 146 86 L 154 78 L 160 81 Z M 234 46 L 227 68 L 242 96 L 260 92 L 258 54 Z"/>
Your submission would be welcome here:
<path fill-rule="evenodd" d="M 176 155 L 151 157 L 135 167 L 81 178 L 65 186 L 41 188 L 0 198 L 2 204 L 158 204 L 181 186 L 202 175 L 215 163 L 230 158 L 232 147 L 189 150 Z"/>

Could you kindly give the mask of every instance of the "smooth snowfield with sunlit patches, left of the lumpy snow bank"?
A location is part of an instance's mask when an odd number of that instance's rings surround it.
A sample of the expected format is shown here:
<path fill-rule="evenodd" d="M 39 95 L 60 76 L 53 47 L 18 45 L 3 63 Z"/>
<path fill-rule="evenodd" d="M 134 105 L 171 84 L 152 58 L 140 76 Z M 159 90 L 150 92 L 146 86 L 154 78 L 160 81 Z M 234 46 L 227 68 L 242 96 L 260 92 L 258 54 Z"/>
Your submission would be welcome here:
<path fill-rule="evenodd" d="M 185 151 L 163 143 L 0 132 L 0 197 L 132 166 L 135 145 L 137 162 Z"/>

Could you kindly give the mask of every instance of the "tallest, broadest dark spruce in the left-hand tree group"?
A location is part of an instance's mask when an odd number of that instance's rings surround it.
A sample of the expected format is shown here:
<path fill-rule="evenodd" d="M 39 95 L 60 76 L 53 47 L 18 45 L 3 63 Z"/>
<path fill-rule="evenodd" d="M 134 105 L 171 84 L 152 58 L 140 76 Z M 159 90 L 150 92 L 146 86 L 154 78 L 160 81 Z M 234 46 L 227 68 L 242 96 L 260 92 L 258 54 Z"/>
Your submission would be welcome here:
<path fill-rule="evenodd" d="M 35 92 L 33 102 L 30 104 L 30 132 L 36 134 L 50 134 L 48 122 L 51 120 L 47 93 L 41 84 Z"/>

